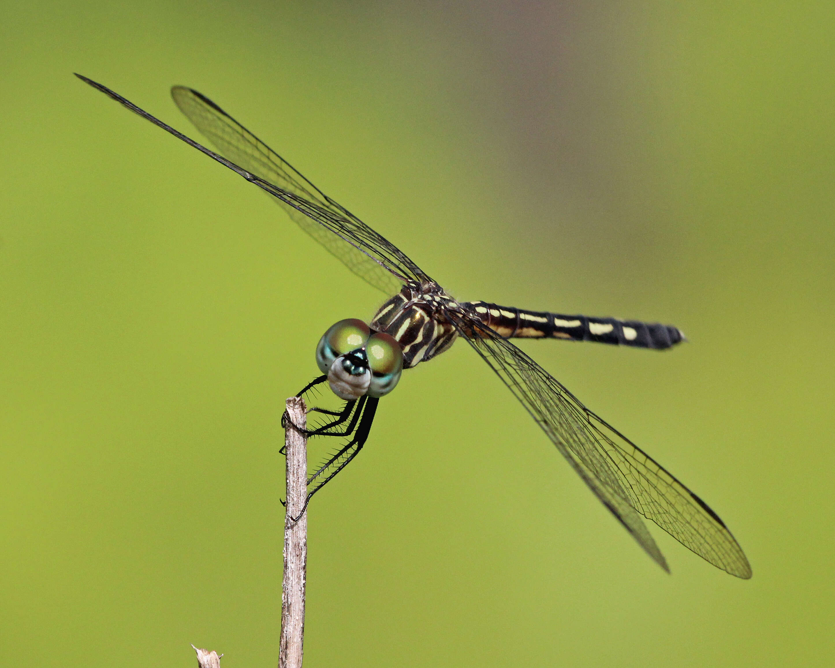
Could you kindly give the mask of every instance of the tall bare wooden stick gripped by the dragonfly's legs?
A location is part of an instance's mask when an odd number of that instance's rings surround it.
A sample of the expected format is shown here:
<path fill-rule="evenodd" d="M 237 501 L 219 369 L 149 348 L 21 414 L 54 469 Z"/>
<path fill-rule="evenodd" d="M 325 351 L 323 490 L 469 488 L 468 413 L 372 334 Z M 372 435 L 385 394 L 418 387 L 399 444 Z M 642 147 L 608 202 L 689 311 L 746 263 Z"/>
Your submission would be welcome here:
<path fill-rule="evenodd" d="M 279 668 L 301 668 L 305 638 L 307 569 L 307 438 L 293 425 L 306 428 L 307 407 L 301 397 L 287 399 L 285 450 L 287 512 L 284 519 L 284 586 L 281 590 Z M 299 517 L 301 515 L 301 517 Z M 293 518 L 298 518 L 293 521 Z"/>

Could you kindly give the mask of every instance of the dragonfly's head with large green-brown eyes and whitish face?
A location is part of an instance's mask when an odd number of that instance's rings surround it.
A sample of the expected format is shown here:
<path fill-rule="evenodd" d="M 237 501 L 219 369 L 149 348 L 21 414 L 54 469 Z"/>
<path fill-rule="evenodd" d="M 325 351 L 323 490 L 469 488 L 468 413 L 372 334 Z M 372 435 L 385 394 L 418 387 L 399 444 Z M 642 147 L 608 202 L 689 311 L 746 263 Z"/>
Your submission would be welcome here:
<path fill-rule="evenodd" d="M 316 365 L 327 374 L 337 397 L 383 397 L 400 380 L 403 353 L 394 337 L 372 330 L 362 320 L 348 318 L 321 337 L 316 346 Z"/>

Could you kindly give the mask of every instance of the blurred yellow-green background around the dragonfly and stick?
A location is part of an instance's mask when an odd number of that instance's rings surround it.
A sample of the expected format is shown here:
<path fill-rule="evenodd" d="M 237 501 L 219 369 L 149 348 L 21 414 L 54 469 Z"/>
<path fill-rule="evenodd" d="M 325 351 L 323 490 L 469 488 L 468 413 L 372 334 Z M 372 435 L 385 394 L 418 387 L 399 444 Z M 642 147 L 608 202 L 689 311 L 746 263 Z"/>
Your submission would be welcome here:
<path fill-rule="evenodd" d="M 452 6 L 451 6 L 452 5 Z M 835 5 L 0 5 L 0 665 L 275 665 L 284 398 L 382 295 L 192 133 L 228 109 L 721 514 L 661 571 L 463 344 L 310 510 L 306 665 L 824 666 Z"/>

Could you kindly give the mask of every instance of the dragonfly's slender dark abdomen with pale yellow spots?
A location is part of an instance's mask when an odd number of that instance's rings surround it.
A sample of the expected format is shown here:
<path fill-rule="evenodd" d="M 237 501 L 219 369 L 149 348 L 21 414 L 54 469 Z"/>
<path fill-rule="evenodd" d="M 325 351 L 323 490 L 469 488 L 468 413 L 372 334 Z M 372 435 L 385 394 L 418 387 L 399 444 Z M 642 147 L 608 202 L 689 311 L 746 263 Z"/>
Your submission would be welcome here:
<path fill-rule="evenodd" d="M 656 350 L 685 341 L 681 330 L 671 325 L 526 311 L 484 301 L 468 301 L 461 306 L 505 338 L 557 338 Z"/>

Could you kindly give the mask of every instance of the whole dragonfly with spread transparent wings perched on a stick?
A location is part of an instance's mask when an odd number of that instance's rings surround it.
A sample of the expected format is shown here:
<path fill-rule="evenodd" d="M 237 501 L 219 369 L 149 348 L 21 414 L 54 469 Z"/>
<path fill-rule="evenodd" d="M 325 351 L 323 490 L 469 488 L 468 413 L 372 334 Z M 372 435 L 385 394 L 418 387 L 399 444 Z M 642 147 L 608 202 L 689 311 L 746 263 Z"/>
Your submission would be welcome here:
<path fill-rule="evenodd" d="M 265 190 L 296 225 L 388 296 L 370 322 L 342 320 L 325 332 L 316 347 L 321 375 L 297 395 L 326 383 L 345 400 L 340 410 L 311 409 L 325 415 L 326 423 L 307 430 L 308 435 L 347 438 L 347 443 L 308 475 L 307 502 L 362 450 L 380 398 L 397 386 L 402 371 L 438 357 L 463 339 L 662 569 L 670 572 L 644 519 L 717 568 L 738 578 L 751 577 L 745 553 L 719 515 L 511 342 L 554 338 L 665 350 L 686 340 L 677 327 L 457 301 L 396 245 L 316 188 L 205 95 L 183 86 L 171 89 L 175 104 L 216 152 L 101 83 L 76 76 Z"/>

